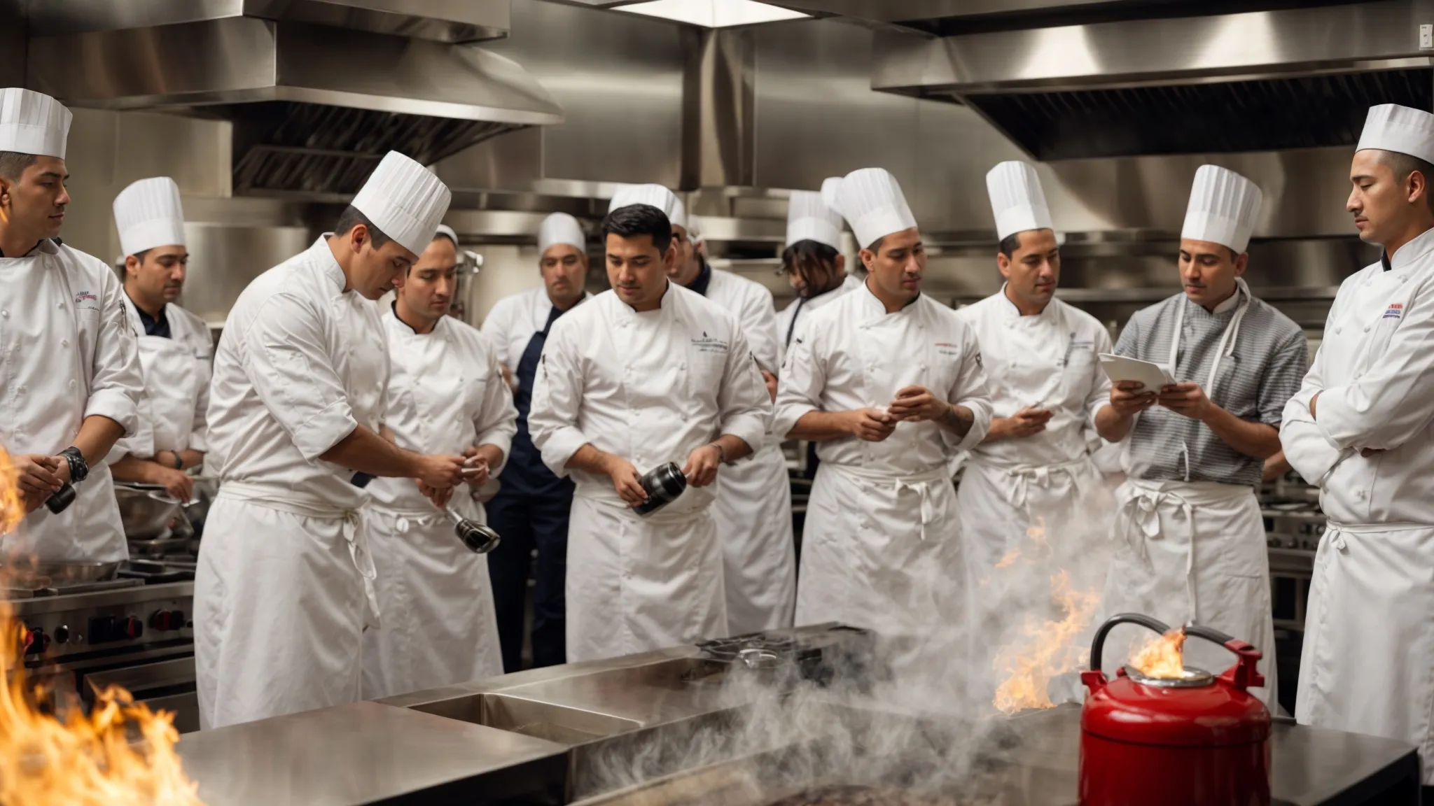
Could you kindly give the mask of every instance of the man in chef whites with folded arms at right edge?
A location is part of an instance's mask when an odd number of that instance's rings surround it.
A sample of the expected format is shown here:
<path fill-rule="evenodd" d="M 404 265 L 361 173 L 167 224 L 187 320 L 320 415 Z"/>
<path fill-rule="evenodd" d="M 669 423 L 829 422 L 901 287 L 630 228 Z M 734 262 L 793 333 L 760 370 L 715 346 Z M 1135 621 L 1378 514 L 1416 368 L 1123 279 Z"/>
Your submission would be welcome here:
<path fill-rule="evenodd" d="M 1369 109 L 1347 208 L 1378 262 L 1339 287 L 1281 442 L 1319 485 L 1295 717 L 1411 741 L 1434 784 L 1434 115 Z"/>

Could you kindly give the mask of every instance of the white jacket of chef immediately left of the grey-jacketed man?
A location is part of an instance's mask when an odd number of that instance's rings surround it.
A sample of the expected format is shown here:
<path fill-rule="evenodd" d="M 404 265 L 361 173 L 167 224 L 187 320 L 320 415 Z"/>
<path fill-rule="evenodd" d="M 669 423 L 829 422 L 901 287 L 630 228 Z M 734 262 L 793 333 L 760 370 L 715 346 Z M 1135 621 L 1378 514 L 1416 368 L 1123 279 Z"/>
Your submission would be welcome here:
<path fill-rule="evenodd" d="M 956 316 L 981 344 L 994 417 L 1027 406 L 1050 409 L 1045 430 L 981 443 L 972 455 L 999 466 L 1048 466 L 1088 453 L 1086 433 L 1110 404 L 1110 379 L 1097 356 L 1110 353 L 1110 333 L 1096 317 L 1060 300 L 1035 316 L 1021 311 L 1005 288 Z"/>

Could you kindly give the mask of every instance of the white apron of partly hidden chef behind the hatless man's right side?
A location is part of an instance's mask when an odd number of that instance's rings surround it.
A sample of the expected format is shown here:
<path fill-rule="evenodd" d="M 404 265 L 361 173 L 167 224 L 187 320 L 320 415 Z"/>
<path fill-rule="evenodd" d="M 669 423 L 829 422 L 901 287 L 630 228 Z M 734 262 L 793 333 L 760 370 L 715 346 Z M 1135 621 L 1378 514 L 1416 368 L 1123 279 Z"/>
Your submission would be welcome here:
<path fill-rule="evenodd" d="M 792 627 L 797 559 L 790 490 L 787 460 L 774 440 L 717 473 L 713 518 L 726 561 L 733 635 Z"/>

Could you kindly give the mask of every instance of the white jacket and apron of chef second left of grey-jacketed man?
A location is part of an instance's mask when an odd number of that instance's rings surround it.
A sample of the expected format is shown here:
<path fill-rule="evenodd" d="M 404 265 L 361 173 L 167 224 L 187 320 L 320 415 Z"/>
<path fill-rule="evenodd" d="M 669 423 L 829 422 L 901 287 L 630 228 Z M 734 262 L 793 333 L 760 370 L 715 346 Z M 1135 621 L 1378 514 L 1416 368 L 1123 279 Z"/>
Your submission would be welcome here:
<path fill-rule="evenodd" d="M 886 409 L 906 386 L 968 407 L 975 422 L 964 437 L 925 422 L 899 423 L 883 442 L 817 443 L 797 625 L 842 621 L 919 637 L 964 622 L 962 536 L 946 465 L 991 425 L 971 326 L 925 294 L 892 314 L 865 285 L 842 295 L 792 341 L 773 430 L 790 433 L 809 412 Z"/>

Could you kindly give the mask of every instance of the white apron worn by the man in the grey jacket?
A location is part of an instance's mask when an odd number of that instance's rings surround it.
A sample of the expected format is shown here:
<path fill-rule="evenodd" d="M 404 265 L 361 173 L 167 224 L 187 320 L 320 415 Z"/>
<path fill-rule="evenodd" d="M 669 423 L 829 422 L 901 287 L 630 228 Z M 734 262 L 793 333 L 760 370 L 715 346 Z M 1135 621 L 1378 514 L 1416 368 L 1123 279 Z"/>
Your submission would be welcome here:
<path fill-rule="evenodd" d="M 1116 490 L 1116 551 L 1101 604 L 1117 612 L 1153 615 L 1172 627 L 1203 624 L 1249 641 L 1263 658 L 1256 697 L 1275 710 L 1275 622 L 1269 595 L 1265 519 L 1255 490 L 1215 482 L 1126 479 Z M 1100 621 L 1100 620 L 1098 620 Z M 1120 625 L 1111 637 L 1110 670 L 1130 644 L 1150 638 Z M 1209 641 L 1186 644 L 1186 664 L 1222 673 L 1235 655 Z"/>

